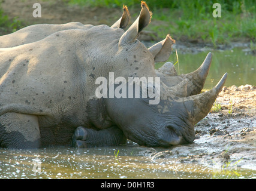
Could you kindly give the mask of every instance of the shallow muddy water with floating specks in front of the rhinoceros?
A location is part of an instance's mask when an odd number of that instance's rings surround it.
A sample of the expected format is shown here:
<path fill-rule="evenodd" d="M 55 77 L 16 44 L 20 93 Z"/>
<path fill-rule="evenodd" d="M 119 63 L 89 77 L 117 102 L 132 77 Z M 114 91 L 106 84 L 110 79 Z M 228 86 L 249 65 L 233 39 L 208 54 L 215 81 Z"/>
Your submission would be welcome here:
<path fill-rule="evenodd" d="M 161 156 L 152 158 L 147 156 L 150 152 L 152 149 L 134 144 L 90 149 L 70 147 L 36 150 L 0 149 L 0 179 L 256 178 L 256 171 L 236 168 L 229 172 L 220 167 L 185 164 L 175 158 L 166 159 Z"/>

